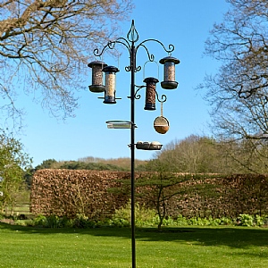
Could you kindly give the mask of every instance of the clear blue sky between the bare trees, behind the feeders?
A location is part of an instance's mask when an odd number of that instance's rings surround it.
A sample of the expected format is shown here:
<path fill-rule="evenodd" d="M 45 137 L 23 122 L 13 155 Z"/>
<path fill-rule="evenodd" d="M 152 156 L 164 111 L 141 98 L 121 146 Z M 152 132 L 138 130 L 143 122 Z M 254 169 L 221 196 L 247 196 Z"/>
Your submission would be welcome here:
<path fill-rule="evenodd" d="M 160 104 L 155 111 L 145 111 L 145 94 L 141 89 L 141 98 L 136 101 L 135 121 L 136 142 L 159 141 L 163 145 L 174 139 L 183 139 L 191 134 L 209 135 L 207 123 L 210 107 L 205 104 L 201 92 L 195 90 L 204 79 L 205 73 L 213 74 L 220 63 L 204 56 L 205 39 L 214 22 L 221 22 L 228 9 L 224 0 L 137 0 L 130 21 L 121 23 L 121 36 L 126 37 L 131 20 L 135 20 L 139 41 L 155 38 L 165 46 L 172 44 L 175 50 L 172 56 L 180 59 L 176 67 L 176 80 L 179 87 L 176 90 L 163 90 L 160 83 L 157 91 L 165 94 L 167 101 L 163 104 L 163 116 L 170 122 L 170 130 L 162 135 L 155 132 L 153 123 L 160 115 Z M 167 54 L 162 46 L 151 42 L 147 45 L 150 53 L 159 61 Z M 59 121 L 49 116 L 46 110 L 33 103 L 30 96 L 25 101 L 25 128 L 21 136 L 25 151 L 33 158 L 33 166 L 43 160 L 54 158 L 57 161 L 78 160 L 86 156 L 101 158 L 130 157 L 130 130 L 109 130 L 105 121 L 130 121 L 130 72 L 124 71 L 129 65 L 129 55 L 121 50 L 119 63 L 114 59 L 105 58 L 109 65 L 115 65 L 121 70 L 117 74 L 117 96 L 121 100 L 116 105 L 105 105 L 101 99 L 88 91 L 91 83 L 91 73 L 88 69 L 88 81 L 85 91 L 80 92 L 80 108 L 74 118 Z M 93 51 L 88 51 L 92 54 Z M 147 62 L 145 51 L 138 51 L 137 62 L 143 67 Z M 150 67 L 147 67 L 151 64 Z M 146 65 L 145 77 L 154 76 L 163 80 L 163 65 Z M 153 73 L 155 71 L 155 73 Z M 143 85 L 144 73 L 139 71 L 136 84 Z M 136 158 L 150 159 L 153 151 L 136 150 Z"/>

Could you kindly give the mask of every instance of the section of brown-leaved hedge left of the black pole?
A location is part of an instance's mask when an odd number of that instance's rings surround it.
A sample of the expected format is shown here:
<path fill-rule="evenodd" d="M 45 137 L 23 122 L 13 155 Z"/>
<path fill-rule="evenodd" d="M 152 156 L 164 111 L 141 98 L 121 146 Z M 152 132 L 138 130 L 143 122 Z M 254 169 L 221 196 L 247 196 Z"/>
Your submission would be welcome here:
<path fill-rule="evenodd" d="M 128 195 L 108 190 L 119 188 L 118 180 L 127 178 L 130 172 L 40 170 L 32 181 L 31 212 L 103 218 L 128 202 Z"/>

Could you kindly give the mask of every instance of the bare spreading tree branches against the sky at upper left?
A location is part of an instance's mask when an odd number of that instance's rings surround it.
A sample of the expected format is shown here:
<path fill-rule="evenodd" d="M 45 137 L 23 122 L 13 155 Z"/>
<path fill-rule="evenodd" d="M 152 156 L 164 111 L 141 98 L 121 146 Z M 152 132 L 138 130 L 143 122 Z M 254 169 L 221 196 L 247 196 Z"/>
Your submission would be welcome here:
<path fill-rule="evenodd" d="M 131 0 L 0 0 L 1 112 L 13 120 L 21 116 L 19 87 L 39 90 L 42 105 L 55 116 L 71 115 L 89 56 L 113 38 L 131 8 Z"/>

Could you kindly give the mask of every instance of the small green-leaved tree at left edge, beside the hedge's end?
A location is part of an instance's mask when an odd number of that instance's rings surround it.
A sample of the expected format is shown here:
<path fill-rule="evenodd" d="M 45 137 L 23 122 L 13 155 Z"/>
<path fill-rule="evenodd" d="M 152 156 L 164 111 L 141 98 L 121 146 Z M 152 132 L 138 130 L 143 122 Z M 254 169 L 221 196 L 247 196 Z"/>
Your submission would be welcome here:
<path fill-rule="evenodd" d="M 23 152 L 19 140 L 0 134 L 0 207 L 15 205 L 20 190 L 24 186 L 24 174 L 29 169 L 31 159 Z"/>

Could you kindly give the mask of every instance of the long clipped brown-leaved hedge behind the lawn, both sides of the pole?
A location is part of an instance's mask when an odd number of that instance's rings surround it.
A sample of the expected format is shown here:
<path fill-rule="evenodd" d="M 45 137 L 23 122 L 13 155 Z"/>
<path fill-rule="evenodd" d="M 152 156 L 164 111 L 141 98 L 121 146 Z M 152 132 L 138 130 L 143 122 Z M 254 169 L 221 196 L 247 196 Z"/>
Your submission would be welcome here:
<path fill-rule="evenodd" d="M 136 179 L 145 178 L 145 173 L 140 175 L 137 172 Z M 138 186 L 136 201 L 154 207 L 154 189 L 146 183 Z M 181 180 L 165 190 L 178 192 L 166 201 L 167 215 L 172 217 L 268 214 L 267 175 L 209 175 L 200 180 Z M 90 219 L 101 219 L 111 216 L 129 199 L 130 172 L 40 170 L 32 181 L 31 212 L 71 218 L 85 214 Z"/>

